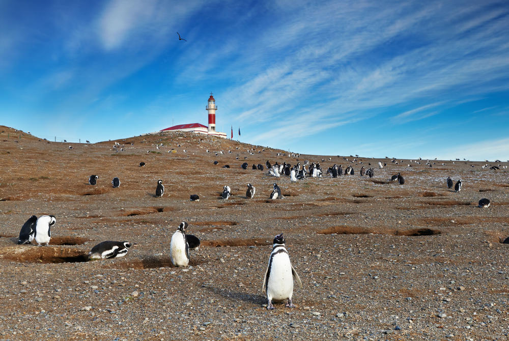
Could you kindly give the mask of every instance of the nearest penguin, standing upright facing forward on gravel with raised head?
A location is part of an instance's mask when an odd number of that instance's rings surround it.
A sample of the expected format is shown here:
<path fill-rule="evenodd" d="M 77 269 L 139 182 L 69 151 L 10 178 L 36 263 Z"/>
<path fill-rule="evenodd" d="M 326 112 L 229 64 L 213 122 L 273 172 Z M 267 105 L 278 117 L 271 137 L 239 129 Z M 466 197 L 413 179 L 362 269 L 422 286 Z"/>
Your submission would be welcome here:
<path fill-rule="evenodd" d="M 269 264 L 263 278 L 263 288 L 267 295 L 267 309 L 274 309 L 272 301 L 278 302 L 288 299 L 288 308 L 294 308 L 292 302 L 293 280 L 296 279 L 302 288 L 299 274 L 290 262 L 290 255 L 285 247 L 283 234 L 274 238 Z"/>

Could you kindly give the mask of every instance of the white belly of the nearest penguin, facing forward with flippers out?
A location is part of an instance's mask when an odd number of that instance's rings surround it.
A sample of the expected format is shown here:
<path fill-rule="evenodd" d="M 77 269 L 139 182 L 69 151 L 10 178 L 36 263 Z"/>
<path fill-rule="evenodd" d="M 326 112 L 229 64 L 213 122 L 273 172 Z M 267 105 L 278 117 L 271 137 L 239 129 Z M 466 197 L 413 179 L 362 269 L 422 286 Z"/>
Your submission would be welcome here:
<path fill-rule="evenodd" d="M 288 253 L 281 252 L 272 258 L 269 280 L 267 282 L 267 297 L 273 301 L 292 298 L 293 274 Z"/>

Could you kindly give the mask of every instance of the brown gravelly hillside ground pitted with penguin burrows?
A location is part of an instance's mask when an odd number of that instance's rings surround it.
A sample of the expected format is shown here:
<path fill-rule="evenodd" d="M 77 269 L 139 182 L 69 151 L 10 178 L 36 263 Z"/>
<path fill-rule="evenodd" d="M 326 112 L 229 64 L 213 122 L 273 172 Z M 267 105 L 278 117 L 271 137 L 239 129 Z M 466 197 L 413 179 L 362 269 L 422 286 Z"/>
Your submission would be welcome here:
<path fill-rule="evenodd" d="M 509 337 L 507 169 L 390 158 L 378 169 L 378 159 L 289 157 L 184 133 L 126 138 L 114 148 L 0 128 L 2 339 Z M 250 169 L 266 160 L 320 161 L 324 170 L 350 164 L 355 175 L 291 183 Z M 358 175 L 368 163 L 373 179 Z M 490 162 L 498 164 L 508 163 Z M 404 185 L 387 181 L 398 172 Z M 463 180 L 461 192 L 446 188 L 447 176 Z M 114 177 L 120 188 L 111 187 Z M 159 179 L 165 194 L 156 198 Z M 267 200 L 274 182 L 281 200 Z M 257 189 L 252 200 L 247 183 Z M 228 201 L 219 198 L 224 185 Z M 483 197 L 490 208 L 477 208 Z M 56 217 L 49 246 L 16 244 L 33 214 Z M 181 221 L 202 240 L 187 268 L 169 260 Z M 297 308 L 268 311 L 262 277 L 281 232 L 303 289 L 294 290 Z M 124 258 L 86 262 L 104 240 L 136 245 Z"/>

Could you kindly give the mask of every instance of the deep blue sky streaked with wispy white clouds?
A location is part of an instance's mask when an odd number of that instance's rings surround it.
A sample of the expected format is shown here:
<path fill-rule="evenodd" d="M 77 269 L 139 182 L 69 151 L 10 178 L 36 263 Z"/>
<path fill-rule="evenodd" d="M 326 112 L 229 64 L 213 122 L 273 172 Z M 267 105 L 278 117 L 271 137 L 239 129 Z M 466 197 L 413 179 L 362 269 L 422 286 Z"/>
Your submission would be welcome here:
<path fill-rule="evenodd" d="M 212 91 L 247 143 L 505 161 L 507 27 L 489 0 L 3 0 L 0 124 L 116 139 L 207 124 Z"/>

